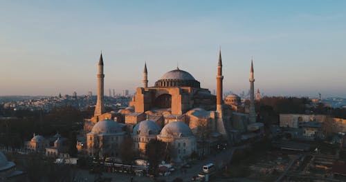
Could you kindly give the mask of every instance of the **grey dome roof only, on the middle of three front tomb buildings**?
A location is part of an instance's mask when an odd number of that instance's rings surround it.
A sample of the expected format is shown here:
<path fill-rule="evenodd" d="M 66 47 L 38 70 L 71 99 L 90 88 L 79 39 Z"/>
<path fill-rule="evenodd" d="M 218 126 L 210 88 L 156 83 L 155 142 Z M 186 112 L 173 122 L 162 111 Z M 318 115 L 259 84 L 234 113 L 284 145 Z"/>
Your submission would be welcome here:
<path fill-rule="evenodd" d="M 158 126 L 154 121 L 145 120 L 138 123 L 132 132 L 136 135 L 150 135 L 150 134 L 159 134 L 161 131 L 160 126 Z"/>

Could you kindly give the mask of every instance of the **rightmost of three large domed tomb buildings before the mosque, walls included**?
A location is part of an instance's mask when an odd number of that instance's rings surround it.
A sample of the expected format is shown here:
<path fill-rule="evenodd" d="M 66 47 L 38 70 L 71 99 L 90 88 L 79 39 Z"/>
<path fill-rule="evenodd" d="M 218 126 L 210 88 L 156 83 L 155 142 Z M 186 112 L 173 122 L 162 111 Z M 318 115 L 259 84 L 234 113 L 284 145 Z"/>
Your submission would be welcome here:
<path fill-rule="evenodd" d="M 197 142 L 192 130 L 182 121 L 172 121 L 165 125 L 158 140 L 168 142 L 174 149 L 171 158 L 176 163 L 186 161 L 197 150 Z"/>

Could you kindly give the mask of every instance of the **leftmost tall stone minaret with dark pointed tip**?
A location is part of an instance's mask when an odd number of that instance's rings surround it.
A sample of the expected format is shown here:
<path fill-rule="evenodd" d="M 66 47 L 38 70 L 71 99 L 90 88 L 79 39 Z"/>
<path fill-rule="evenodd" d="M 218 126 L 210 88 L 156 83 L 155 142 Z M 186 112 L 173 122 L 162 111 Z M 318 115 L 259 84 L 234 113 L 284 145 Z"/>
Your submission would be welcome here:
<path fill-rule="evenodd" d="M 105 112 L 104 109 L 104 88 L 103 88 L 103 79 L 104 79 L 104 74 L 103 74 L 103 58 L 102 58 L 102 53 L 100 55 L 100 61 L 98 61 L 98 101 L 96 102 L 96 107 L 95 107 L 95 112 L 94 116 L 100 116 Z"/>

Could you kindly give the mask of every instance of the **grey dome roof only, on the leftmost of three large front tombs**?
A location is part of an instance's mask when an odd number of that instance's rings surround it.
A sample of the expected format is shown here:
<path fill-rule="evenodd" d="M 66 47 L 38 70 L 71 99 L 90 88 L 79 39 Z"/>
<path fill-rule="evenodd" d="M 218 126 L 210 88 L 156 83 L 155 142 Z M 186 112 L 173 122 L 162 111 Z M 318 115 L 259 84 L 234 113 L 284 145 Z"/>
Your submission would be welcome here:
<path fill-rule="evenodd" d="M 111 119 L 98 121 L 98 123 L 96 123 L 93 126 L 93 129 L 91 130 L 91 133 L 93 134 L 102 134 L 102 133 L 111 134 L 111 133 L 117 133 L 117 132 L 122 132 L 121 125 Z"/>

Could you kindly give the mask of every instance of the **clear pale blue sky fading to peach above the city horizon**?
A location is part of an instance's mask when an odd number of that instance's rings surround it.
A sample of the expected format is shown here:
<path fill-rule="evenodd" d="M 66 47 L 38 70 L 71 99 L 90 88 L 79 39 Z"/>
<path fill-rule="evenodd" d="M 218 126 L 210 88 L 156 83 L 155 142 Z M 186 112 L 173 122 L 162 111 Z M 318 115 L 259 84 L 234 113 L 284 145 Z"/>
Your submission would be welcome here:
<path fill-rule="evenodd" d="M 135 92 L 190 72 L 224 92 L 346 97 L 346 1 L 0 1 L 0 95 Z"/>

